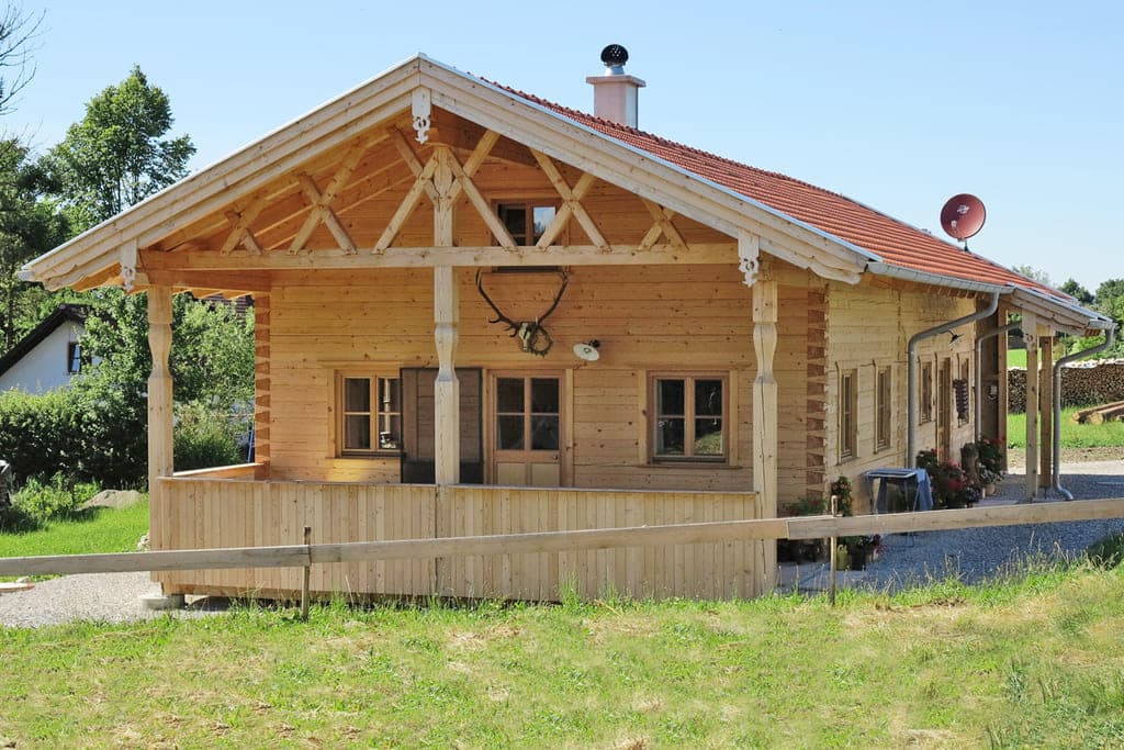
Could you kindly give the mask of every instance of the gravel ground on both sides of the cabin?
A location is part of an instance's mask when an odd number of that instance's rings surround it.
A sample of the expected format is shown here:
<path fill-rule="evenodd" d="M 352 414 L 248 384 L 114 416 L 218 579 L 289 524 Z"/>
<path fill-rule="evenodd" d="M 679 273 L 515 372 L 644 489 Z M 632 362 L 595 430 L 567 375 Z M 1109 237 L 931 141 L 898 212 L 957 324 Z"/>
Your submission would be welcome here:
<path fill-rule="evenodd" d="M 1124 461 L 1095 461 L 1066 466 L 1062 486 L 1075 499 L 1124 497 Z M 1017 470 L 1016 470 L 1017 471 Z M 1012 473 L 995 500 L 1012 503 L 1021 494 L 1023 475 Z M 1037 501 L 1042 501 L 1041 499 Z M 1050 501 L 1060 501 L 1051 498 Z M 1058 524 L 961 528 L 883 539 L 882 554 L 865 571 L 841 576 L 841 585 L 894 590 L 949 573 L 977 582 L 1017 564 L 1027 555 L 1076 554 L 1109 534 L 1124 532 L 1124 518 Z M 826 588 L 826 566 L 801 566 L 790 584 L 801 590 Z M 34 589 L 0 594 L 0 626 L 37 627 L 74 620 L 126 622 L 162 617 L 140 605 L 140 596 L 158 594 L 148 573 L 93 573 L 42 581 Z M 218 603 L 217 603 L 218 604 Z M 199 606 L 203 605 L 203 606 Z M 176 613 L 200 616 L 212 612 L 208 602 Z"/>

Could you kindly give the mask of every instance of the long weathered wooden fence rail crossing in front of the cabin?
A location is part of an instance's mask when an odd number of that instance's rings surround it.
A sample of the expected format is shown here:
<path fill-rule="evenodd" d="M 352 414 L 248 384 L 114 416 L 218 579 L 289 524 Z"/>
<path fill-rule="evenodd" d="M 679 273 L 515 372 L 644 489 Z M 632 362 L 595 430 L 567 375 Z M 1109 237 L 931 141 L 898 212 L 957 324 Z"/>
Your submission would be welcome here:
<path fill-rule="evenodd" d="M 827 515 L 797 516 L 760 521 L 719 521 L 586 531 L 455 536 L 436 540 L 3 558 L 0 559 L 0 576 L 299 568 L 320 562 L 354 560 L 565 552 L 746 539 L 818 539 L 1106 518 L 1124 518 L 1124 498 L 1009 505 L 963 510 L 927 510 L 846 518 Z"/>

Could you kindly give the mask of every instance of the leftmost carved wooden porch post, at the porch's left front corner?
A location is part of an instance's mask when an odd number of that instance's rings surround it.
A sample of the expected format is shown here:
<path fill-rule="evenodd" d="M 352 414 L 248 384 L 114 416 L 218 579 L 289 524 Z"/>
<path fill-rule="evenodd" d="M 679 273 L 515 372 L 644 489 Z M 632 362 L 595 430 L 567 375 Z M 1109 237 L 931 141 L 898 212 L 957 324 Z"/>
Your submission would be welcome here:
<path fill-rule="evenodd" d="M 172 288 L 148 287 L 148 347 L 152 373 L 148 376 L 148 494 L 152 498 L 149 530 L 152 549 L 163 549 L 163 518 L 156 517 L 160 477 L 171 477 L 172 466 L 172 371 L 167 358 L 172 350 Z"/>

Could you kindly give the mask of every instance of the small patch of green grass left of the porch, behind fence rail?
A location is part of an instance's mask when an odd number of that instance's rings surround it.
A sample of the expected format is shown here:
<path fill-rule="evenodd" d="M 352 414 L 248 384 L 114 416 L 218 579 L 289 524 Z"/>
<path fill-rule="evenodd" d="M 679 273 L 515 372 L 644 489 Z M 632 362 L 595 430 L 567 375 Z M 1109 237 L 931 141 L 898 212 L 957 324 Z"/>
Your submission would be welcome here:
<path fill-rule="evenodd" d="M 79 517 L 49 521 L 37 531 L 0 533 L 0 558 L 128 552 L 146 531 L 147 500 L 120 510 L 92 508 Z"/>

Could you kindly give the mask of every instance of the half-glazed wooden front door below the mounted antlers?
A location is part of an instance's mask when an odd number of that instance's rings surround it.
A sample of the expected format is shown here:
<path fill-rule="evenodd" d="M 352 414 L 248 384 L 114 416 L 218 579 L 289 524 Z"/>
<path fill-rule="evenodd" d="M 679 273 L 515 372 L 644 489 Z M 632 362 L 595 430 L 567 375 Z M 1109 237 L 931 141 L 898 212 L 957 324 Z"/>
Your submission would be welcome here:
<path fill-rule="evenodd" d="M 520 487 L 562 485 L 562 377 L 492 377 L 492 481 Z"/>

